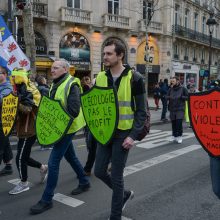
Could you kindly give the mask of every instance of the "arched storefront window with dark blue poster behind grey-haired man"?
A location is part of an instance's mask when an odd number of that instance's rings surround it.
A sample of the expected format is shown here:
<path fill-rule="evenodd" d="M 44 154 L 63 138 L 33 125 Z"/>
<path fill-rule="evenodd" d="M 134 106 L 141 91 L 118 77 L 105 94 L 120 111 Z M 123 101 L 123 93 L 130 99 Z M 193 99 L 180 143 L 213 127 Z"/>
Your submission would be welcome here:
<path fill-rule="evenodd" d="M 60 41 L 59 49 L 60 58 L 66 59 L 75 67 L 77 77 L 90 76 L 90 45 L 82 34 L 77 32 L 66 34 Z"/>

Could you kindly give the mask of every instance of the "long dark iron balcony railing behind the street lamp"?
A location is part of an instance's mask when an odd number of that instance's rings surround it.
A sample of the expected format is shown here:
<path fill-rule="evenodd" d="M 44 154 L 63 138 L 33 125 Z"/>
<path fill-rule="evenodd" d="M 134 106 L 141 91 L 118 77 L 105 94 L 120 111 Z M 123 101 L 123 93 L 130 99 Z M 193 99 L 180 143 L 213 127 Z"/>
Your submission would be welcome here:
<path fill-rule="evenodd" d="M 198 31 L 194 31 L 189 28 L 185 28 L 180 25 L 173 25 L 173 34 L 175 36 L 186 38 L 191 41 L 196 41 L 209 45 L 209 35 L 203 34 Z M 212 46 L 220 48 L 220 40 L 217 38 L 212 38 Z"/>

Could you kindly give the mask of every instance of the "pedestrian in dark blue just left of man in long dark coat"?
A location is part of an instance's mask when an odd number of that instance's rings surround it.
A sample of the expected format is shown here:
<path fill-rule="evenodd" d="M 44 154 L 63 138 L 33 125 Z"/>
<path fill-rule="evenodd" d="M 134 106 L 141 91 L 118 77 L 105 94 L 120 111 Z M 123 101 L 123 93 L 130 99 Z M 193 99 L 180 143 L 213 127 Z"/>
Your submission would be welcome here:
<path fill-rule="evenodd" d="M 168 86 L 168 79 L 164 79 L 163 82 L 160 82 L 160 94 L 161 94 L 161 102 L 162 102 L 162 113 L 161 113 L 161 121 L 166 122 L 167 121 L 167 117 L 166 117 L 166 113 L 167 113 L 167 99 L 166 99 L 166 95 L 167 92 L 169 90 L 169 86 Z"/>

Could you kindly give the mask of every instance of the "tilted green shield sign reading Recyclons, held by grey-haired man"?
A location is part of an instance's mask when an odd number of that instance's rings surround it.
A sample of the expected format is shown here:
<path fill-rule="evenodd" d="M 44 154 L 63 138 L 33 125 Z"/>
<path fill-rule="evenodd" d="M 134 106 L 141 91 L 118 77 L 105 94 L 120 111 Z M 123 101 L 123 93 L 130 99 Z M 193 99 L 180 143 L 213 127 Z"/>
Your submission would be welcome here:
<path fill-rule="evenodd" d="M 71 123 L 71 116 L 65 112 L 60 101 L 42 97 L 36 118 L 36 134 L 40 145 L 50 146 L 58 142 Z"/>

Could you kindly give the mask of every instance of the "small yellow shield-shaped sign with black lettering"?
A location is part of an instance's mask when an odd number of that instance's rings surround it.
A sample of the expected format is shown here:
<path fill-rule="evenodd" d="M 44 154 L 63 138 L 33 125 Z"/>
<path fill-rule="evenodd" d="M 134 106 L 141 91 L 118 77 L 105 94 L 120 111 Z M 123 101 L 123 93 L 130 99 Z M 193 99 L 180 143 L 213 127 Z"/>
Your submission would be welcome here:
<path fill-rule="evenodd" d="M 2 128 L 5 136 L 8 136 L 14 126 L 18 110 L 18 97 L 10 93 L 2 100 Z"/>

